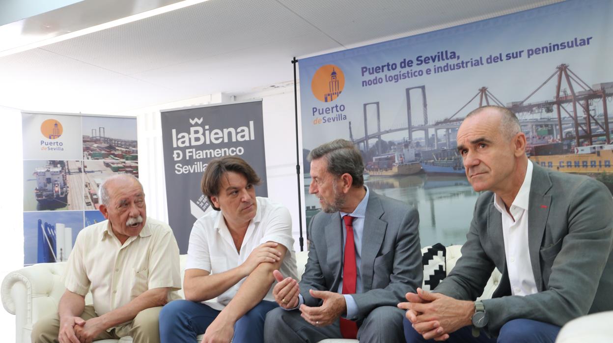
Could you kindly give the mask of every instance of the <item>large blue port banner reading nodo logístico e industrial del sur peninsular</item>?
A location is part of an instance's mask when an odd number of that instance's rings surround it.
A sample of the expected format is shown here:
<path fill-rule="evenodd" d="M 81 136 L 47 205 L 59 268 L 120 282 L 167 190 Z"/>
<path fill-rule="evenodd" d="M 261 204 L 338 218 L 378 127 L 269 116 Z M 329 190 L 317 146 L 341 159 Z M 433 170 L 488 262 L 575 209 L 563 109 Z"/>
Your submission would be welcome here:
<path fill-rule="evenodd" d="M 455 135 L 479 106 L 517 114 L 533 163 L 611 187 L 611 18 L 613 1 L 566 1 L 302 59 L 303 155 L 354 142 L 370 190 L 419 210 L 423 245 L 465 241 L 478 194 Z M 306 160 L 304 177 L 310 220 Z"/>

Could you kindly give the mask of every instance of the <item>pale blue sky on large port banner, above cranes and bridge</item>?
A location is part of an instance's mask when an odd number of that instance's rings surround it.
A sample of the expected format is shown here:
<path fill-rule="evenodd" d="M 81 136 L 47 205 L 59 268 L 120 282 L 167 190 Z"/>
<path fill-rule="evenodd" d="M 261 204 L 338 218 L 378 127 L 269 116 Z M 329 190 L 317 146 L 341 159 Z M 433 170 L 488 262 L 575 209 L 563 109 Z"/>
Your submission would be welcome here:
<path fill-rule="evenodd" d="M 406 126 L 405 88 L 425 85 L 428 104 L 428 121 L 433 123 L 450 117 L 466 104 L 479 88 L 488 90 L 503 104 L 522 101 L 538 88 L 555 68 L 568 64 L 569 69 L 592 86 L 595 83 L 613 82 L 613 66 L 607 63 L 613 56 L 613 2 L 609 0 L 568 1 L 538 9 L 504 15 L 490 20 L 478 21 L 432 33 L 390 40 L 365 47 L 343 50 L 327 55 L 300 60 L 300 101 L 302 108 L 303 147 L 311 149 L 322 142 L 337 137 L 349 138 L 349 120 L 352 121 L 354 138 L 364 136 L 363 104 L 379 101 L 381 128 Z M 555 52 L 536 54 L 535 49 L 560 44 L 561 42 L 587 39 L 589 44 L 566 48 Z M 528 57 L 528 53 L 532 54 Z M 506 60 L 507 53 L 524 50 L 519 58 Z M 435 56 L 438 52 L 455 53 L 455 60 L 434 61 L 417 66 L 418 56 Z M 503 61 L 487 63 L 487 58 L 502 54 Z M 470 60 L 484 62 L 481 66 L 470 66 L 454 71 L 435 73 L 435 66 L 446 63 L 462 63 Z M 412 60 L 412 67 L 400 67 L 400 62 Z M 387 63 L 396 63 L 395 70 L 387 69 Z M 313 96 L 311 81 L 319 67 L 334 64 L 345 76 L 345 87 L 337 99 L 322 102 Z M 374 75 L 368 71 L 362 75 L 363 67 L 383 66 L 383 71 Z M 431 74 L 425 74 L 426 68 Z M 422 76 L 394 82 L 399 72 L 422 71 Z M 390 82 L 386 82 L 386 75 Z M 364 87 L 363 82 L 381 77 L 383 83 Z M 379 80 L 381 80 L 379 79 Z M 563 83 L 563 88 L 566 85 Z M 581 89 L 579 89 L 581 90 Z M 555 78 L 534 94 L 528 102 L 553 99 Z M 417 99 L 420 98 L 420 99 Z M 478 99 L 477 99 L 478 100 Z M 413 125 L 423 123 L 421 95 L 411 97 L 413 102 Z M 338 108 L 343 105 L 344 110 Z M 336 107 L 335 107 L 336 106 Z M 463 117 L 478 106 L 474 101 L 457 117 Z M 332 108 L 335 107 L 335 108 Z M 329 112 L 326 114 L 326 110 Z M 321 111 L 321 115 L 319 114 Z M 374 115 L 369 111 L 369 132 L 375 131 Z M 315 112 L 315 114 L 313 114 Z M 336 117 L 337 121 L 314 124 L 317 118 Z M 431 132 L 432 134 L 432 132 Z M 388 134 L 383 139 L 402 139 L 406 131 Z M 415 133 L 414 137 L 421 137 Z M 374 141 L 371 141 L 371 144 Z"/>

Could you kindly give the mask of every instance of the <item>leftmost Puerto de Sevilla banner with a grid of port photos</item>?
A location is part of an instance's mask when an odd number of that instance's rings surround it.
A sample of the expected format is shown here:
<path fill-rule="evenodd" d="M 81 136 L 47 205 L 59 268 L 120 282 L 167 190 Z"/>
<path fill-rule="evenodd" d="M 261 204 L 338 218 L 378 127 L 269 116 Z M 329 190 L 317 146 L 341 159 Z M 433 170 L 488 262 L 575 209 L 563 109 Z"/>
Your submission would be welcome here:
<path fill-rule="evenodd" d="M 66 261 L 77 234 L 105 220 L 98 188 L 139 176 L 136 118 L 22 112 L 23 263 Z"/>

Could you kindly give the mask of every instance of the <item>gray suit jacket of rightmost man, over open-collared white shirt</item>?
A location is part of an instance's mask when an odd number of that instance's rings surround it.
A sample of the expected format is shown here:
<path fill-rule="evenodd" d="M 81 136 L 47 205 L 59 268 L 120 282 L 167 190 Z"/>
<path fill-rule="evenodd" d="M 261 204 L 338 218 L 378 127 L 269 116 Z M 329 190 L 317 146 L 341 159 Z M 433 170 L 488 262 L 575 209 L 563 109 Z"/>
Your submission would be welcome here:
<path fill-rule="evenodd" d="M 511 296 L 501 214 L 493 199 L 490 191 L 479 196 L 462 257 L 436 292 L 474 300 L 497 267 L 503 278 L 492 299 L 483 301 L 487 331 L 494 336 L 517 318 L 562 326 L 613 310 L 613 199 L 602 183 L 534 164 L 528 250 L 538 293 L 528 296 Z"/>

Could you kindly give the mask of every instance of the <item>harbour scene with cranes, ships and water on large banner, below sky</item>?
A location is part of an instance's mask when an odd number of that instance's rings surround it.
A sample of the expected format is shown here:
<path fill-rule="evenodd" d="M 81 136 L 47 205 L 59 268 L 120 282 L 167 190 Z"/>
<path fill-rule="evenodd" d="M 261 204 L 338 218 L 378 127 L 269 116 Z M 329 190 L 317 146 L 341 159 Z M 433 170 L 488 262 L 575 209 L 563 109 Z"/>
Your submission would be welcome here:
<path fill-rule="evenodd" d="M 419 210 L 422 245 L 462 244 L 479 194 L 466 179 L 455 136 L 466 114 L 477 107 L 512 110 L 527 137 L 533 163 L 590 175 L 613 190 L 613 128 L 607 107 L 613 101 L 613 82 L 588 83 L 568 64 L 547 72 L 538 87 L 526 88 L 520 101 L 503 102 L 500 94 L 484 85 L 474 89 L 472 98 L 449 105 L 451 115 L 441 120 L 432 120 L 440 114 L 431 114 L 428 120 L 426 86 L 409 87 L 402 94 L 404 113 L 386 113 L 384 102 L 364 103 L 363 115 L 348 121 L 338 138 L 354 142 L 362 152 L 364 180 L 371 190 Z M 381 124 L 386 115 L 394 117 L 389 127 Z M 309 152 L 303 150 L 307 225 L 321 209 L 319 199 L 308 194 Z"/>

